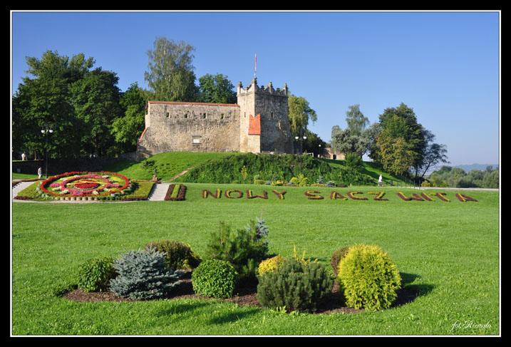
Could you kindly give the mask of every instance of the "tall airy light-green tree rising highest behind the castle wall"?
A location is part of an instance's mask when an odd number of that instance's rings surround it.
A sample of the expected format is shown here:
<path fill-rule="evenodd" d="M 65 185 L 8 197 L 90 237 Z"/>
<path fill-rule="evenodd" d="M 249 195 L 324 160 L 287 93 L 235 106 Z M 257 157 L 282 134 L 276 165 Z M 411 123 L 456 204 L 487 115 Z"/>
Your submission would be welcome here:
<path fill-rule="evenodd" d="M 145 81 L 155 97 L 162 101 L 196 101 L 197 86 L 192 61 L 195 48 L 184 41 L 155 39 L 154 49 L 148 51 L 149 71 Z"/>

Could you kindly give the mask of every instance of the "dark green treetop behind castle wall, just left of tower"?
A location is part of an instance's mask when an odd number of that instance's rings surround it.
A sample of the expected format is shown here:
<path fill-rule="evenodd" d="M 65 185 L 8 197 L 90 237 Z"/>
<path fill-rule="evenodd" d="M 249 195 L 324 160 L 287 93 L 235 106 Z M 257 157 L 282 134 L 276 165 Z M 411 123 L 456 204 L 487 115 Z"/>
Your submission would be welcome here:
<path fill-rule="evenodd" d="M 234 85 L 227 76 L 207 73 L 199 78 L 199 93 L 202 103 L 236 103 Z"/>

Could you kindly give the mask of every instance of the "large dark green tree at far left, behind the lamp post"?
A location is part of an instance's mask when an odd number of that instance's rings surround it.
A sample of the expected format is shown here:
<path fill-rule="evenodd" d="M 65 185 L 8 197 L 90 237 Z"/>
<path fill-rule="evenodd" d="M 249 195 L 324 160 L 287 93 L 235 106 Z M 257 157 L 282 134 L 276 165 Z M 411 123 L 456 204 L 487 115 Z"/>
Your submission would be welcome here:
<path fill-rule="evenodd" d="M 80 53 L 70 59 L 45 51 L 41 58 L 27 57 L 26 63 L 31 77 L 23 78 L 12 100 L 13 146 L 43 152 L 46 137 L 41 129 L 48 124 L 53 129 L 48 136 L 48 155 L 78 156 L 80 139 L 74 135 L 78 125 L 69 86 L 83 78 L 94 64 L 93 58 Z"/>

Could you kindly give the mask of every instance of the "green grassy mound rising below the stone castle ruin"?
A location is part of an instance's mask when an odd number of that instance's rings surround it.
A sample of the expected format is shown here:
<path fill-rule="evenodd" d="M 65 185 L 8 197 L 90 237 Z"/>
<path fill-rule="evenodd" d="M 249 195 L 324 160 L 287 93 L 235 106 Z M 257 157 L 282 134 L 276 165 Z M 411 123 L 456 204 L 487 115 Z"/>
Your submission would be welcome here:
<path fill-rule="evenodd" d="M 335 181 L 339 185 L 376 185 L 378 176 L 383 175 L 385 185 L 404 186 L 404 178 L 388 175 L 373 162 L 364 162 L 359 173 L 351 172 L 344 160 L 318 159 L 296 155 L 254 155 L 252 153 L 207 153 L 207 152 L 166 152 L 153 155 L 141 162 L 125 161 L 104 167 L 104 171 L 117 172 L 133 180 L 150 180 L 156 169 L 158 178 L 170 181 L 181 172 L 193 167 L 177 182 L 199 183 L 249 183 L 254 176 L 260 180 L 282 180 L 289 182 L 292 177 L 304 175 L 309 183 L 315 183 L 319 176 L 324 182 Z M 247 170 L 246 177 L 242 168 Z M 21 175 L 13 172 L 13 179 L 34 178 L 36 175 Z"/>

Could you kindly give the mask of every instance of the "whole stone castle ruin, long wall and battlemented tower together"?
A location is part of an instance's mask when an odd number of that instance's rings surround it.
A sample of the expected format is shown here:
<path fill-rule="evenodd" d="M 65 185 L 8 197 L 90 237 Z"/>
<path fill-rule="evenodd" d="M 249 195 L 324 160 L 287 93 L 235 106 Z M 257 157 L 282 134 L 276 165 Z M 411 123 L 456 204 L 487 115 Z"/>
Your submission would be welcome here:
<path fill-rule="evenodd" d="M 137 145 L 142 160 L 162 152 L 293 152 L 289 90 L 239 82 L 237 103 L 149 101 Z"/>

